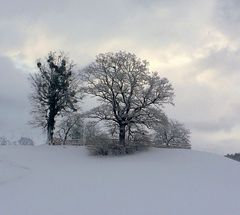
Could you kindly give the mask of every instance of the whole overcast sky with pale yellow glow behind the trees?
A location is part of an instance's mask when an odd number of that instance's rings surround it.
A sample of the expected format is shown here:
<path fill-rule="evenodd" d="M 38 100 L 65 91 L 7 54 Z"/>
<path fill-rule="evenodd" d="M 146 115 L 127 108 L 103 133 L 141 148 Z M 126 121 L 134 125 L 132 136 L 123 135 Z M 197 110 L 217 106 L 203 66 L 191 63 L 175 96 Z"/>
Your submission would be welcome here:
<path fill-rule="evenodd" d="M 168 114 L 192 132 L 194 149 L 240 152 L 239 0 L 8 0 L 0 7 L 0 135 L 28 125 L 29 72 L 51 50 L 78 65 L 125 50 L 175 89 Z"/>

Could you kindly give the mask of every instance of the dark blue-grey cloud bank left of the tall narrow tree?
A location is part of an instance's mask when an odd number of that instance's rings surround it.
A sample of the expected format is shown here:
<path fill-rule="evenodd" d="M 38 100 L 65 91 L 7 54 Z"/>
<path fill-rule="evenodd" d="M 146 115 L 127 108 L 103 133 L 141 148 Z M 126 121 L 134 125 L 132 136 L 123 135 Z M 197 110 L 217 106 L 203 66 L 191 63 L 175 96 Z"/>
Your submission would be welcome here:
<path fill-rule="evenodd" d="M 30 119 L 27 75 L 6 57 L 0 57 L 0 67 L 0 136 L 27 134 Z"/>

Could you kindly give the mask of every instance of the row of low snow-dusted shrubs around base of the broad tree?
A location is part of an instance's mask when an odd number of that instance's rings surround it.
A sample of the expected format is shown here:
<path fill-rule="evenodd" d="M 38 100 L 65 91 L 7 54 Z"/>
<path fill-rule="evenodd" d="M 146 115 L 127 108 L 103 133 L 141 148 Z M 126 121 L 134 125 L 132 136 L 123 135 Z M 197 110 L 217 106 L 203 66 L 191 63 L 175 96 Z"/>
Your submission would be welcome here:
<path fill-rule="evenodd" d="M 168 121 L 151 133 L 138 130 L 126 132 L 125 145 L 119 144 L 118 130 L 94 121 L 84 121 L 78 113 L 66 115 L 56 126 L 54 145 L 84 145 L 92 155 L 122 155 L 149 147 L 190 149 L 190 131 L 177 121 Z"/>

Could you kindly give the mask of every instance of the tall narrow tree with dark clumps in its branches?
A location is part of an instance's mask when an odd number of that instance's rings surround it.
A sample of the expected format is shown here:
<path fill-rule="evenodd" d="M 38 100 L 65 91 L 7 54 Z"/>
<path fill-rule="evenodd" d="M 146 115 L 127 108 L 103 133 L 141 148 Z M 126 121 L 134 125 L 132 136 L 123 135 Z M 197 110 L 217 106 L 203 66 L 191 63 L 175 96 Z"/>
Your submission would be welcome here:
<path fill-rule="evenodd" d="M 74 64 L 63 52 L 50 52 L 46 62 L 37 61 L 37 67 L 38 73 L 30 75 L 32 124 L 47 129 L 48 143 L 52 144 L 56 116 L 76 110 L 78 84 Z"/>

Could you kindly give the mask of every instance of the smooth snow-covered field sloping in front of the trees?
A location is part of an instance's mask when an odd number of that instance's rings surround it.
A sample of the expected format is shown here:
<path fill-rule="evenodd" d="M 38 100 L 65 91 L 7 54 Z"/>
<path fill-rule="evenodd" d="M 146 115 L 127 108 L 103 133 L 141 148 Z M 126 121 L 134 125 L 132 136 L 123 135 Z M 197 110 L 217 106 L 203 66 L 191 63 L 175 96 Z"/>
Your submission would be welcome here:
<path fill-rule="evenodd" d="M 239 196 L 240 163 L 210 153 L 0 147 L 0 215 L 233 215 Z"/>

